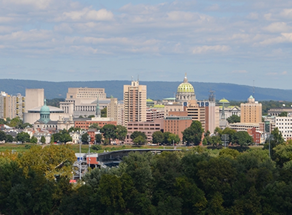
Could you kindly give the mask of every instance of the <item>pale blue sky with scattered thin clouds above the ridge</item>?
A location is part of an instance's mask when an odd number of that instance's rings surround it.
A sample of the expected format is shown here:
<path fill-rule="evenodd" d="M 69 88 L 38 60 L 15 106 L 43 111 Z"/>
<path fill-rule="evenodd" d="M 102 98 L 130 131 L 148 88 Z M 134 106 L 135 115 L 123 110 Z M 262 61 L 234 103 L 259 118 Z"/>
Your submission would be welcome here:
<path fill-rule="evenodd" d="M 0 78 L 292 89 L 292 1 L 0 0 Z"/>

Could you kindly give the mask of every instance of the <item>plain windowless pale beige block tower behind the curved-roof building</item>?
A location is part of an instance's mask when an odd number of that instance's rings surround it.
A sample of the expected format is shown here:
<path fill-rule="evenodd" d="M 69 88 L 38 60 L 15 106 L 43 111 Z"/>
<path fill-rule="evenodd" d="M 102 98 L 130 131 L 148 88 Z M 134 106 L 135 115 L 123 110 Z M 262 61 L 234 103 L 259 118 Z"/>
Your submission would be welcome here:
<path fill-rule="evenodd" d="M 25 113 L 44 105 L 44 89 L 25 89 Z"/>

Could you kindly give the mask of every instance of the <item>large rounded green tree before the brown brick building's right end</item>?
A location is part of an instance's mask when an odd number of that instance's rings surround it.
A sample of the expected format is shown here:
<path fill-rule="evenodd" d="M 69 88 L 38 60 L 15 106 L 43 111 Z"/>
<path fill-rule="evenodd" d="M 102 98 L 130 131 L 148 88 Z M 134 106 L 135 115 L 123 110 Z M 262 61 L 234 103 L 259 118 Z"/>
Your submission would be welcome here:
<path fill-rule="evenodd" d="M 188 144 L 194 143 L 199 145 L 202 141 L 204 129 L 200 121 L 193 121 L 191 126 L 182 131 L 183 141 L 187 141 Z"/>

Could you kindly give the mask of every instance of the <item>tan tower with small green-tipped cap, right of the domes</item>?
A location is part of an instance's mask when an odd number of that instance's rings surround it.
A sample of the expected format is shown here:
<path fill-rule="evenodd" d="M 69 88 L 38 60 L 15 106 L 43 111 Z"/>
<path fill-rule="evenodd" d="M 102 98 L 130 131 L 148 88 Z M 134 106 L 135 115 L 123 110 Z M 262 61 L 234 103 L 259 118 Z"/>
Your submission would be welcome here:
<path fill-rule="evenodd" d="M 261 103 L 255 101 L 253 96 L 248 98 L 247 103 L 241 103 L 241 123 L 260 123 L 261 117 Z"/>

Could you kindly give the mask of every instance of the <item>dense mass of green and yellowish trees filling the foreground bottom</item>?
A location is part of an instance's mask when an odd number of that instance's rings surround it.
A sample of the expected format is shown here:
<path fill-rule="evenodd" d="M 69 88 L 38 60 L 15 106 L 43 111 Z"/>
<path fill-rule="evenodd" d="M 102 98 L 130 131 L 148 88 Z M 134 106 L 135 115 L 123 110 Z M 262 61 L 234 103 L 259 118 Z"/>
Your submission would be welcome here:
<path fill-rule="evenodd" d="M 70 146 L 0 155 L 3 214 L 290 214 L 292 144 L 267 149 L 130 153 L 70 184 Z M 53 159 L 54 158 L 54 159 Z"/>

